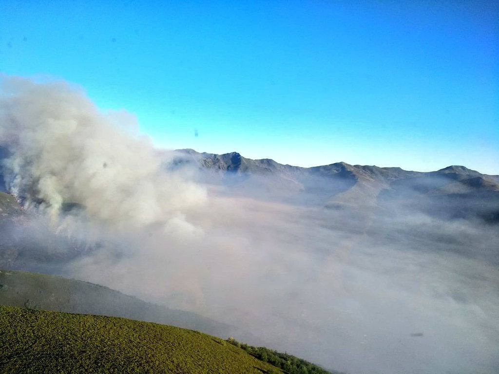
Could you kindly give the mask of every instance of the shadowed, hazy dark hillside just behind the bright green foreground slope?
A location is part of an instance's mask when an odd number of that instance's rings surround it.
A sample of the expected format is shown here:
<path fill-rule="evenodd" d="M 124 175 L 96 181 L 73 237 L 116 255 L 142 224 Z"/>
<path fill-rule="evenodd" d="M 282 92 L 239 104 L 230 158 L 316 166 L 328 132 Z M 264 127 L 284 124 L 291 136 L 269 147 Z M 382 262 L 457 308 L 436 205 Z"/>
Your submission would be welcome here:
<path fill-rule="evenodd" d="M 0 270 L 0 304 L 67 313 L 125 317 L 217 336 L 240 329 L 195 313 L 146 303 L 107 287 L 53 275 Z"/>

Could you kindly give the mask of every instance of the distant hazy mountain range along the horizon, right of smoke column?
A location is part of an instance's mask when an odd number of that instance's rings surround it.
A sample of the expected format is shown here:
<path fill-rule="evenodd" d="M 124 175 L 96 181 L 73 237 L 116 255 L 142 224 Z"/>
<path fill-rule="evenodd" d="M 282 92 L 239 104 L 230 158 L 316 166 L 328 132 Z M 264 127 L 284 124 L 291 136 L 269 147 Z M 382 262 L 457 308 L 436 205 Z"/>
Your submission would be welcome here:
<path fill-rule="evenodd" d="M 479 218 L 499 222 L 499 176 L 464 166 L 435 172 L 349 165 L 312 168 L 251 160 L 237 152 L 224 155 L 178 150 L 171 167 L 198 168 L 202 182 L 222 185 L 229 194 L 320 205 L 333 209 L 422 210 L 442 218 Z M 215 173 L 214 173 L 215 172 Z"/>

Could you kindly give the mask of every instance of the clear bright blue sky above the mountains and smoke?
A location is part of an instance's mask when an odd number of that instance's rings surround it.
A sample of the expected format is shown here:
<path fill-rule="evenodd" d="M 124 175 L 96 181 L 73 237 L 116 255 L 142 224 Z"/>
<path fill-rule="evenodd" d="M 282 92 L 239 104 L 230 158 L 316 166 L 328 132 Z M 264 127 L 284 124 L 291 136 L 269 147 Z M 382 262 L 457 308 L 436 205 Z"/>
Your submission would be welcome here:
<path fill-rule="evenodd" d="M 158 147 L 499 174 L 498 1 L 0 4 L 1 72 L 80 85 Z"/>

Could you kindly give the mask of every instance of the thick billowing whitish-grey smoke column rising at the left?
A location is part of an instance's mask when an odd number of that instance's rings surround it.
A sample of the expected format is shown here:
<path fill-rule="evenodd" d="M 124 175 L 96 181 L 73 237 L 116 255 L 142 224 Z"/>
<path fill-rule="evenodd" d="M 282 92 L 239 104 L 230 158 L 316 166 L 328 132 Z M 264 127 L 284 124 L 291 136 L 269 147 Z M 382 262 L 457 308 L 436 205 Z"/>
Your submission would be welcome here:
<path fill-rule="evenodd" d="M 204 189 L 165 173 L 149 139 L 130 131 L 136 127 L 133 116 L 99 112 L 66 82 L 1 77 L 1 168 L 10 192 L 41 200 L 53 216 L 72 202 L 119 229 L 195 230 L 185 213 L 204 202 Z"/>

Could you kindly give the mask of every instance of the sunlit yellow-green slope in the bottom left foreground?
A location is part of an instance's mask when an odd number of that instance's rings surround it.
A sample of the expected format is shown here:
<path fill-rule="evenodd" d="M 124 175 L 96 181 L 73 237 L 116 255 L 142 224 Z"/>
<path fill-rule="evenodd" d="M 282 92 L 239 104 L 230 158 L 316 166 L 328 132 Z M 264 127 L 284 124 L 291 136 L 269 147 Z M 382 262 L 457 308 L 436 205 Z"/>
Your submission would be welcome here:
<path fill-rule="evenodd" d="M 225 341 L 124 318 L 0 305 L 1 373 L 282 373 Z"/>

